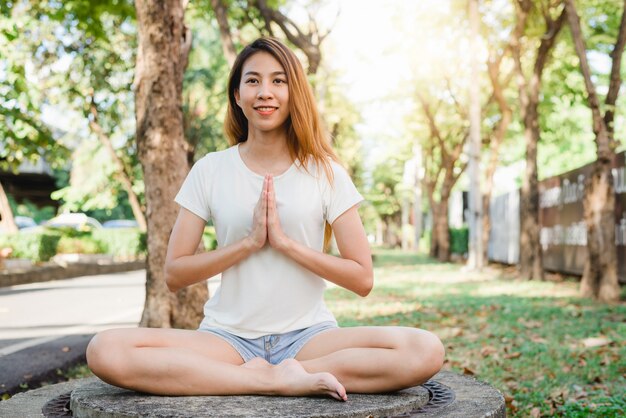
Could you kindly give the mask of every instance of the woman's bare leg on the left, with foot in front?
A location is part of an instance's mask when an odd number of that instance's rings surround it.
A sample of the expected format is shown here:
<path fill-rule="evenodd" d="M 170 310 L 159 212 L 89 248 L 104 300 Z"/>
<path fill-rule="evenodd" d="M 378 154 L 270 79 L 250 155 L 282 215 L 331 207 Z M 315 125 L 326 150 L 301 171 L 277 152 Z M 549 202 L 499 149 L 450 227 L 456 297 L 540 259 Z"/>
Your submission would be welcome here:
<path fill-rule="evenodd" d="M 328 395 L 345 400 L 330 373 L 309 373 L 296 360 L 251 361 L 221 338 L 173 329 L 117 329 L 87 347 L 94 374 L 116 386 L 160 395 Z M 244 366 L 244 367 L 242 367 Z"/>

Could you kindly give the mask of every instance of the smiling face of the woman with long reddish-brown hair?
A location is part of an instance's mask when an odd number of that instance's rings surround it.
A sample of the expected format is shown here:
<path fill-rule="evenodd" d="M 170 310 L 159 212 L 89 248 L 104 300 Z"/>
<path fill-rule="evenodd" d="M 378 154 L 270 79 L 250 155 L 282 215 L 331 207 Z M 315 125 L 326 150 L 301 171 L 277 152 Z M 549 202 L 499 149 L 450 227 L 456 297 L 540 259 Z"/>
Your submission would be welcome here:
<path fill-rule="evenodd" d="M 285 69 L 268 52 L 255 53 L 243 64 L 235 99 L 248 119 L 249 132 L 283 129 L 289 117 Z"/>

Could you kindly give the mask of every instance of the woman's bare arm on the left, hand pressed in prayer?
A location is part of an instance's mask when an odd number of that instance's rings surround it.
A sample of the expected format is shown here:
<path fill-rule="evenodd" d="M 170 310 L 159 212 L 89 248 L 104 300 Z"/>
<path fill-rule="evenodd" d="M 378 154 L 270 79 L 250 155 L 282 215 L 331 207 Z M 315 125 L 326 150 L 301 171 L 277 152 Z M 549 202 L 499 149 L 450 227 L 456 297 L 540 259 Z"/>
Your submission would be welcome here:
<path fill-rule="evenodd" d="M 267 241 L 266 213 L 267 180 L 254 208 L 250 235 L 217 250 L 196 254 L 206 222 L 193 212 L 181 208 L 165 257 L 165 281 L 168 289 L 176 292 L 213 277 L 262 248 Z"/>

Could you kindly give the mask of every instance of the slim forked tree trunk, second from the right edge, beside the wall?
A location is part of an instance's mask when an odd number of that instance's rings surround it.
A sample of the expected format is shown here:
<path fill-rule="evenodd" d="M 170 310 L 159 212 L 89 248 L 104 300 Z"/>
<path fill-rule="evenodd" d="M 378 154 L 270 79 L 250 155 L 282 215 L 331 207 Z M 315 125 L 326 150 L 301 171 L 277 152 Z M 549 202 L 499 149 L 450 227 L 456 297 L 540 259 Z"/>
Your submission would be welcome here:
<path fill-rule="evenodd" d="M 539 180 L 537 176 L 537 144 L 540 137 L 539 94 L 543 69 L 556 37 L 563 27 L 566 13 L 563 10 L 559 17 L 554 20 L 550 17 L 550 10 L 544 10 L 546 31 L 541 37 L 532 74 L 527 78 L 521 62 L 521 40 L 533 2 L 518 0 L 517 6 L 517 21 L 513 32 L 514 39 L 511 44 L 511 51 L 517 72 L 520 113 L 524 123 L 524 140 L 526 143 L 526 170 L 520 193 L 520 275 L 526 279 L 543 280 L 539 224 Z"/>

